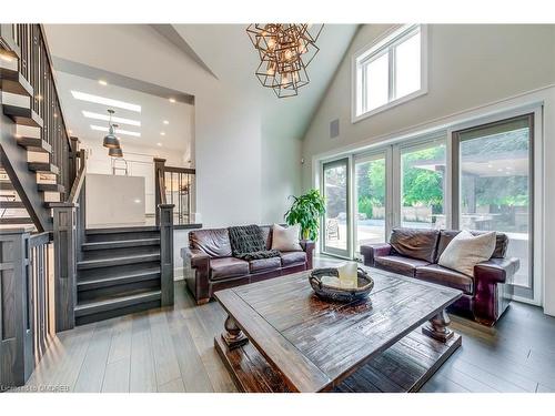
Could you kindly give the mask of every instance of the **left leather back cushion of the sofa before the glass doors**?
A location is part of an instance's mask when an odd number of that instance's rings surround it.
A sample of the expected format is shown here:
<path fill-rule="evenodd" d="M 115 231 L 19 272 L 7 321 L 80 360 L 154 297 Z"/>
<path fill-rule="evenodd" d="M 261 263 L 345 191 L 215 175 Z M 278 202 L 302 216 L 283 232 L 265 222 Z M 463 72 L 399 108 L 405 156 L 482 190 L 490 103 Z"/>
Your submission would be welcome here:
<path fill-rule="evenodd" d="M 433 263 L 438 237 L 437 230 L 393 229 L 390 244 L 402 256 Z"/>

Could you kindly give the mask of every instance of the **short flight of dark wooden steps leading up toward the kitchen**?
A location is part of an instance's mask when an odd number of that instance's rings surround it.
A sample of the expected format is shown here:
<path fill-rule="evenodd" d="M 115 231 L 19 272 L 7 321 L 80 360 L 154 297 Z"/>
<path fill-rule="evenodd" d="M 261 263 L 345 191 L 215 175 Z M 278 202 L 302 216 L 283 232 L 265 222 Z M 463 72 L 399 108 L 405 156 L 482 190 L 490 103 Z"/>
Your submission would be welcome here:
<path fill-rule="evenodd" d="M 87 230 L 77 270 L 77 325 L 160 307 L 160 229 Z"/>

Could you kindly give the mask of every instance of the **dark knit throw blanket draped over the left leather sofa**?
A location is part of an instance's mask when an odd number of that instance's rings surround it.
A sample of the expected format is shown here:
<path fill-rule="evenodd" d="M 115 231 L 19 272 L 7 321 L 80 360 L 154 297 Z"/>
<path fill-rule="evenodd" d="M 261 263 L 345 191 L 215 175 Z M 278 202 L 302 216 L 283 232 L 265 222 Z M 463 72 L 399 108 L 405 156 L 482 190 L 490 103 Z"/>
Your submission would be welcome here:
<path fill-rule="evenodd" d="M 266 250 L 262 229 L 258 225 L 230 226 L 231 251 L 233 257 L 251 261 L 279 257 L 276 250 Z"/>

